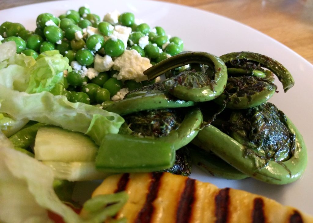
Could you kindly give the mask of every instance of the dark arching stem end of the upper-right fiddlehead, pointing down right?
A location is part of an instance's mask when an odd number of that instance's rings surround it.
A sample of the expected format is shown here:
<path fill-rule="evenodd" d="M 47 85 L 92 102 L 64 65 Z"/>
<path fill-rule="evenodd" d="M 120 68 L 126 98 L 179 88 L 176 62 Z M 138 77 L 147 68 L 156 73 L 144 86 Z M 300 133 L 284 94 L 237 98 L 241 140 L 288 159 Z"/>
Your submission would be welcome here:
<path fill-rule="evenodd" d="M 238 61 L 240 64 L 243 60 L 259 63 L 261 67 L 269 69 L 278 77 L 278 80 L 282 83 L 285 92 L 287 92 L 295 84 L 290 72 L 280 62 L 262 54 L 253 52 L 233 52 L 224 54 L 220 56 L 220 58 L 225 63 L 235 63 Z"/>

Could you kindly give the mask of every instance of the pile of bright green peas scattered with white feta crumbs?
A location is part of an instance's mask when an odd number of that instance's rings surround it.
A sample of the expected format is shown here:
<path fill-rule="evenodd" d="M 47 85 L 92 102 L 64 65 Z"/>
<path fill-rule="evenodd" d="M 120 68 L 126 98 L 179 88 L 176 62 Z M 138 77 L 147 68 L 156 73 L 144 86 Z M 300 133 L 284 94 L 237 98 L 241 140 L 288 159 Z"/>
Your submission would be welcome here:
<path fill-rule="evenodd" d="M 141 57 L 149 58 L 152 65 L 182 52 L 183 41 L 179 37 L 166 35 L 162 27 L 151 29 L 146 23 L 136 24 L 131 12 L 122 13 L 117 24 L 101 21 L 100 16 L 90 12 L 90 8 L 82 6 L 78 11 L 68 10 L 59 17 L 51 13 L 40 14 L 36 19 L 37 28 L 29 31 L 18 22 L 3 22 L 0 25 L 2 42 L 14 41 L 17 53 L 32 56 L 35 59 L 39 53 L 58 50 L 69 59 L 69 63 L 77 61 L 86 68 L 94 67 L 94 56 L 105 54 L 119 57 L 125 49 L 136 50 Z M 127 46 L 120 39 L 110 37 L 114 26 L 131 27 Z M 85 29 L 93 27 L 94 35 L 86 35 Z M 139 46 L 141 37 L 147 36 L 149 42 L 143 48 Z M 117 80 L 113 77 L 117 71 L 100 72 L 98 76 L 89 79 L 81 71 L 74 70 L 64 75 L 64 79 L 50 92 L 54 95 L 65 95 L 71 102 L 87 104 L 112 103 L 110 100 L 121 88 L 129 91 L 141 88 L 153 82 L 136 82 L 134 80 Z"/>

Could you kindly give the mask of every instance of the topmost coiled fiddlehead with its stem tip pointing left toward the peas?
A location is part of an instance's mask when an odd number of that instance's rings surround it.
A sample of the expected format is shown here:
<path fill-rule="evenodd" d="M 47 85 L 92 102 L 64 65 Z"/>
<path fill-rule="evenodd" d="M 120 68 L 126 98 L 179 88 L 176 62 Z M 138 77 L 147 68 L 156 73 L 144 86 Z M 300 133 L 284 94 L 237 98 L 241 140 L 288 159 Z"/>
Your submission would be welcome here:
<path fill-rule="evenodd" d="M 220 58 L 206 52 L 184 52 L 169 57 L 144 71 L 144 74 L 152 80 L 169 70 L 192 63 L 208 65 L 213 75 L 181 72 L 165 81 L 166 90 L 175 97 L 194 102 L 210 101 L 222 94 L 227 82 L 226 66 Z"/>

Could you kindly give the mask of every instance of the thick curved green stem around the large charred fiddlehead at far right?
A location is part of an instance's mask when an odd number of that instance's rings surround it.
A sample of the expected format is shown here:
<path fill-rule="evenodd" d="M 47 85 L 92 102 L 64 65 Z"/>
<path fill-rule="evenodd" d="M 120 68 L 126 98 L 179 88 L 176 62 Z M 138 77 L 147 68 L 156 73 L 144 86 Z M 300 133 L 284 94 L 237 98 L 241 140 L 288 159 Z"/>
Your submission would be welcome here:
<path fill-rule="evenodd" d="M 287 122 L 290 131 L 296 136 L 293 155 L 280 163 L 270 160 L 262 168 L 257 168 L 255 165 L 258 161 L 263 162 L 261 158 L 247 157 L 246 147 L 243 144 L 212 125 L 204 127 L 196 139 L 199 142 L 198 146 L 202 149 L 214 152 L 248 176 L 272 184 L 287 184 L 299 179 L 307 165 L 307 153 L 303 138 L 290 119 L 287 118 Z"/>

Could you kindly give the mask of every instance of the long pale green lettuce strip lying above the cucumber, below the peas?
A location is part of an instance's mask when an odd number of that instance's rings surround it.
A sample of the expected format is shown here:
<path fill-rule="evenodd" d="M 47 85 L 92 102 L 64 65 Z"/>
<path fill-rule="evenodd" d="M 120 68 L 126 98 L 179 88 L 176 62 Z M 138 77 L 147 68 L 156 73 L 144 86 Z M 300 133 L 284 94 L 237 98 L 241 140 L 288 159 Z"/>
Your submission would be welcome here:
<path fill-rule="evenodd" d="M 0 85 L 0 112 L 89 135 L 98 145 L 108 133 L 117 134 L 124 119 L 113 112 L 49 92 L 28 94 Z"/>

